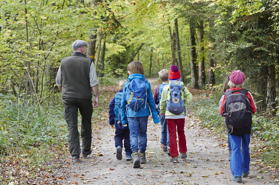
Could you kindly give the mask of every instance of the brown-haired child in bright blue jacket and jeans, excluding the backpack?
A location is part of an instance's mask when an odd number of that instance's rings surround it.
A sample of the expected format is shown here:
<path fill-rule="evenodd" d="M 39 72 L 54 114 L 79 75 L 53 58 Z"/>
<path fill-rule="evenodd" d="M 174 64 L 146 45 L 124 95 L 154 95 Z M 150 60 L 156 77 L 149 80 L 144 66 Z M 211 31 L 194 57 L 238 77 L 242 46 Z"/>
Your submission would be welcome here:
<path fill-rule="evenodd" d="M 133 168 L 139 168 L 140 164 L 146 163 L 145 150 L 147 146 L 147 121 L 150 111 L 154 123 L 159 123 L 159 117 L 156 111 L 156 105 L 153 99 L 150 83 L 144 78 L 144 68 L 139 61 L 133 61 L 127 65 L 129 77 L 128 82 L 123 87 L 123 95 L 121 100 L 121 120 L 123 124 L 129 123 L 130 143 L 132 149 Z M 127 103 L 128 88 L 133 87 L 131 81 L 143 81 L 144 89 L 146 90 L 146 103 L 137 110 L 132 109 Z M 130 96 L 131 98 L 131 96 Z M 150 108 L 150 111 L 149 111 Z M 134 111 L 135 110 L 135 111 Z"/>

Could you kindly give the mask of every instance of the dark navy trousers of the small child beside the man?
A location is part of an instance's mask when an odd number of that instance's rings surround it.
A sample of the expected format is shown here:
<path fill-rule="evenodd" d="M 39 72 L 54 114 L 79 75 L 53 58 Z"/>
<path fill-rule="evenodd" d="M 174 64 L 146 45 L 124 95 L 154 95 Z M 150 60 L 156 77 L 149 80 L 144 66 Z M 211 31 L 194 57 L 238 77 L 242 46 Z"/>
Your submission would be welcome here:
<path fill-rule="evenodd" d="M 132 153 L 131 144 L 130 144 L 130 130 L 115 128 L 115 136 L 114 136 L 115 146 L 117 147 L 118 145 L 120 145 L 121 148 L 123 148 L 123 143 L 122 143 L 123 139 L 124 139 L 125 152 Z"/>

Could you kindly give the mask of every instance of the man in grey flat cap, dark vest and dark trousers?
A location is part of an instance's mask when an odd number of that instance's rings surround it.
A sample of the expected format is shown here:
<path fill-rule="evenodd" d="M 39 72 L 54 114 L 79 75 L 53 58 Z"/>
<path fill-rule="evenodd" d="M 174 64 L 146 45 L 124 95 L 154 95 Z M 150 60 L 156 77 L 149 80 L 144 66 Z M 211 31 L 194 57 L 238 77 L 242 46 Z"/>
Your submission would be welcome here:
<path fill-rule="evenodd" d="M 56 84 L 62 94 L 65 107 L 65 120 L 69 131 L 69 149 L 73 162 L 79 162 L 79 157 L 91 154 L 91 117 L 92 92 L 95 96 L 94 108 L 99 105 L 99 91 L 96 70 L 91 58 L 86 57 L 86 46 L 83 40 L 76 40 L 72 44 L 73 55 L 61 60 L 56 76 Z M 81 137 L 82 151 L 78 133 L 78 109 L 82 118 Z"/>

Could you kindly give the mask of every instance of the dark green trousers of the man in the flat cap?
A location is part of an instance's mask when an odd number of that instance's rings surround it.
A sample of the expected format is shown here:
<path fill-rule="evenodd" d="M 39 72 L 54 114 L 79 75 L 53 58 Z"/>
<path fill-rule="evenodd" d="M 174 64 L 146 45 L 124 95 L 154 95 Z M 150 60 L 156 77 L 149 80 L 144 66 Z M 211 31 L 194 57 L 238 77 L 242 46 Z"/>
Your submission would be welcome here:
<path fill-rule="evenodd" d="M 92 129 L 91 117 L 93 112 L 91 99 L 65 98 L 63 99 L 65 107 L 65 120 L 68 124 L 69 149 L 72 156 L 79 156 L 81 153 L 78 132 L 78 109 L 82 118 L 81 138 L 83 152 L 91 149 Z"/>

